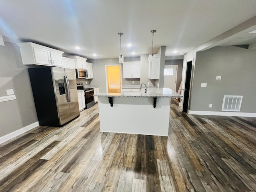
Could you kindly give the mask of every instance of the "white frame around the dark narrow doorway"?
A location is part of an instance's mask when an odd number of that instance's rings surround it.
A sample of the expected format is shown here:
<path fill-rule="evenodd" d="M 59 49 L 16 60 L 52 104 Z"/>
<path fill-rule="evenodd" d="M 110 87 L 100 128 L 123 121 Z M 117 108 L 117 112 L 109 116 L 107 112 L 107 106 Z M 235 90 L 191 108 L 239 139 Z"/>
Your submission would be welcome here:
<path fill-rule="evenodd" d="M 189 108 L 190 107 L 190 96 L 191 96 L 191 90 L 192 90 L 192 84 L 193 84 L 193 77 L 194 77 L 194 58 L 186 60 L 185 66 L 183 66 L 182 73 L 184 72 L 184 76 L 182 76 L 182 86 L 181 86 L 181 89 L 185 89 L 188 62 L 192 62 L 191 76 L 190 76 L 190 88 L 189 88 L 189 94 L 188 94 L 188 108 Z M 181 90 L 181 95 L 183 96 L 183 98 L 181 98 L 179 106 L 181 106 L 181 108 L 183 110 L 184 90 Z"/>

